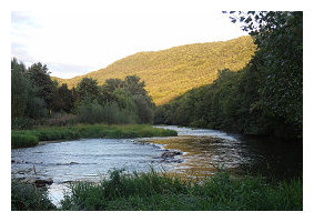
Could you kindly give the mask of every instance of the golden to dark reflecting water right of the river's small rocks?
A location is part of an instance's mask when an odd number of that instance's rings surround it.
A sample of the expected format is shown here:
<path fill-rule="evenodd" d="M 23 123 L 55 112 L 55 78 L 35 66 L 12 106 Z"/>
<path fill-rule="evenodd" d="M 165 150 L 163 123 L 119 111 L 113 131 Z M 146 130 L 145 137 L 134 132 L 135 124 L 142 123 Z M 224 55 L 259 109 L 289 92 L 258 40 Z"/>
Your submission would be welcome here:
<path fill-rule="evenodd" d="M 185 161 L 176 172 L 197 176 L 211 175 L 217 168 L 236 174 L 262 174 L 276 179 L 302 175 L 302 142 L 243 137 L 222 131 L 160 127 L 178 130 L 178 138 L 150 140 L 181 150 Z"/>

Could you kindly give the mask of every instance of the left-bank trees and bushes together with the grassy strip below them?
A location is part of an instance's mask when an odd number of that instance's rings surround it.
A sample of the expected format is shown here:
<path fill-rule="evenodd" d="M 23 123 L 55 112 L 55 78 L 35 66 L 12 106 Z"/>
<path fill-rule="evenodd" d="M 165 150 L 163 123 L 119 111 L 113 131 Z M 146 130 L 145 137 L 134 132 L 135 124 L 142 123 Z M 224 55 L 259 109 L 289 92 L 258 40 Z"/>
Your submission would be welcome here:
<path fill-rule="evenodd" d="M 155 105 L 136 75 L 108 79 L 102 85 L 84 78 L 78 88 L 69 90 L 67 84 L 58 87 L 41 63 L 26 69 L 12 59 L 11 65 L 12 148 L 79 138 L 176 135 L 145 125 L 152 123 Z"/>

